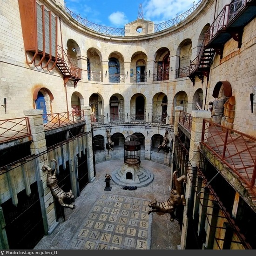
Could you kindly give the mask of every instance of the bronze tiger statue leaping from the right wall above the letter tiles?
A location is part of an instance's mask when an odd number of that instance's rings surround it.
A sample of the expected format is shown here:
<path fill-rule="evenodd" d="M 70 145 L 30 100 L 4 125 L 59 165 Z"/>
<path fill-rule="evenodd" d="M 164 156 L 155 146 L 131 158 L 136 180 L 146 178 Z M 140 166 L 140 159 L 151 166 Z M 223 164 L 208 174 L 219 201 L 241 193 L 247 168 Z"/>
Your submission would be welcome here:
<path fill-rule="evenodd" d="M 187 176 L 182 175 L 177 178 L 177 172 L 173 173 L 173 188 L 171 190 L 171 195 L 165 202 L 157 202 L 155 198 L 148 203 L 148 207 L 151 209 L 148 210 L 148 214 L 151 212 L 156 212 L 158 215 L 164 215 L 166 213 L 170 214 L 170 221 L 174 222 L 175 220 L 175 209 L 178 205 L 186 205 L 186 199 L 182 194 L 182 185 L 187 183 Z"/>

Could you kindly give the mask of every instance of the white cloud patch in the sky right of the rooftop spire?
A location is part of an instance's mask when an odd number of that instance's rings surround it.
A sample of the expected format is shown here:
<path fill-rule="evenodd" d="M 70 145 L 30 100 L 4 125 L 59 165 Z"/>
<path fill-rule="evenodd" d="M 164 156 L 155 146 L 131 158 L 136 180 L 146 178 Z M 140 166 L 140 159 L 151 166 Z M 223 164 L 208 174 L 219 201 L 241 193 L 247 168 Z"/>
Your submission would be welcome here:
<path fill-rule="evenodd" d="M 143 3 L 143 16 L 145 20 L 163 22 L 171 20 L 178 14 L 189 10 L 199 0 L 148 0 Z M 158 22 L 158 23 L 159 23 Z"/>

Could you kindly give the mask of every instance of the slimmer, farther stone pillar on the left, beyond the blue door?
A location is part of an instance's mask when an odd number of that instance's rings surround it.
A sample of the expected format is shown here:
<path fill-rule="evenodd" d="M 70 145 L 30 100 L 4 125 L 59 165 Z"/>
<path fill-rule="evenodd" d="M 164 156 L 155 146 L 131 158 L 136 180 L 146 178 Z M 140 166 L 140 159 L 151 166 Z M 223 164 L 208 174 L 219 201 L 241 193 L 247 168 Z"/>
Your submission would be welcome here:
<path fill-rule="evenodd" d="M 87 162 L 88 162 L 88 174 L 89 182 L 93 182 L 94 177 L 94 161 L 93 161 L 93 138 L 92 138 L 92 127 L 91 127 L 91 108 L 90 106 L 82 107 L 81 110 L 84 111 L 84 119 L 86 124 L 84 126 L 84 132 L 86 135 L 86 148 L 87 148 Z"/>

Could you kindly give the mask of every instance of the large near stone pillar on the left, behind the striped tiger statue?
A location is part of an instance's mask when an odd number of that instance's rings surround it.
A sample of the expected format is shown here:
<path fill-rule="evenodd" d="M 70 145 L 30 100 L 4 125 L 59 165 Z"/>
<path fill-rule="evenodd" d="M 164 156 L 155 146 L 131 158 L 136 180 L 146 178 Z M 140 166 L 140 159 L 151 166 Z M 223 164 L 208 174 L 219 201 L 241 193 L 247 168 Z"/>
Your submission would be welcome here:
<path fill-rule="evenodd" d="M 42 114 L 43 110 L 41 109 L 24 110 L 24 115 L 29 119 L 30 131 L 33 136 L 33 141 L 30 146 L 32 155 L 38 155 L 47 150 Z M 51 234 L 59 222 L 56 222 L 53 197 L 46 184 L 47 171 L 42 170 L 43 165 L 46 164 L 50 166 L 48 155 L 40 155 L 36 158 L 34 163 L 39 191 L 44 191 L 43 195 L 39 196 L 44 229 L 46 234 Z"/>

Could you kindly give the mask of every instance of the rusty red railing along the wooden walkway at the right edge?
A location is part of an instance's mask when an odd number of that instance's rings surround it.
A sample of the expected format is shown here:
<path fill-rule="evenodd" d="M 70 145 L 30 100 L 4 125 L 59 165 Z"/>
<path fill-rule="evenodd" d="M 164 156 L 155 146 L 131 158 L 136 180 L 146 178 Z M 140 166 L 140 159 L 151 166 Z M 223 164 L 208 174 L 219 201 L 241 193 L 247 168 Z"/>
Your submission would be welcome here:
<path fill-rule="evenodd" d="M 251 189 L 256 180 L 256 138 L 203 120 L 202 145 L 224 162 Z"/>

